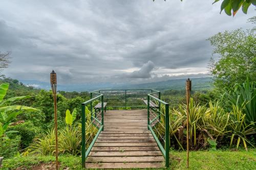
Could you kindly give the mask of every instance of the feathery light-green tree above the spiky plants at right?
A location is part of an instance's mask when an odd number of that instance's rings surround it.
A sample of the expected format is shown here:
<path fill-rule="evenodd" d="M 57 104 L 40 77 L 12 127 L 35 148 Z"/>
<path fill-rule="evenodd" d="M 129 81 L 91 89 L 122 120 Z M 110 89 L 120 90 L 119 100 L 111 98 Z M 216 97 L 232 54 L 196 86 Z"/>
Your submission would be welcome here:
<path fill-rule="evenodd" d="M 220 56 L 209 63 L 218 89 L 232 87 L 236 83 L 256 80 L 256 36 L 253 30 L 225 31 L 208 39 L 214 46 L 213 54 Z"/>

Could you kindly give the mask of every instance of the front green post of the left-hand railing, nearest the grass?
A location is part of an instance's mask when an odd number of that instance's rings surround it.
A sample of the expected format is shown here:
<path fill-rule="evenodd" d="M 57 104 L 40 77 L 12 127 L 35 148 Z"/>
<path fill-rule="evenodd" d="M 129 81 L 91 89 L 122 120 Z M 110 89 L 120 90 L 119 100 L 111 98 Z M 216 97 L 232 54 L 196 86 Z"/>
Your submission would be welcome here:
<path fill-rule="evenodd" d="M 82 104 L 82 167 L 86 167 L 86 106 Z"/>

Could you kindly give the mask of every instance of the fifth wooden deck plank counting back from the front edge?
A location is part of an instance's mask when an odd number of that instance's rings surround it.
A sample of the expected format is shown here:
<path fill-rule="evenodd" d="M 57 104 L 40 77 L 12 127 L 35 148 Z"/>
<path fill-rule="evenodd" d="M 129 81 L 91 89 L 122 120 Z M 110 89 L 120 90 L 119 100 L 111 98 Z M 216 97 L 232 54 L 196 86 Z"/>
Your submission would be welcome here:
<path fill-rule="evenodd" d="M 96 143 L 94 147 L 139 147 L 139 146 L 147 146 L 147 147 L 156 147 L 156 142 L 140 142 L 140 143 Z"/>

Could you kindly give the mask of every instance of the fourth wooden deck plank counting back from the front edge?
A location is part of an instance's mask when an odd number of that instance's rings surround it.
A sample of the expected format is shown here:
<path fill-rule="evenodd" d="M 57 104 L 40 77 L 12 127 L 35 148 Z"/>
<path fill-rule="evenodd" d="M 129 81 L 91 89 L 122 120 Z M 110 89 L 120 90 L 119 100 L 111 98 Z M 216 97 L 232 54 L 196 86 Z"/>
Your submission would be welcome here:
<path fill-rule="evenodd" d="M 158 147 L 93 147 L 91 151 L 159 151 Z"/>

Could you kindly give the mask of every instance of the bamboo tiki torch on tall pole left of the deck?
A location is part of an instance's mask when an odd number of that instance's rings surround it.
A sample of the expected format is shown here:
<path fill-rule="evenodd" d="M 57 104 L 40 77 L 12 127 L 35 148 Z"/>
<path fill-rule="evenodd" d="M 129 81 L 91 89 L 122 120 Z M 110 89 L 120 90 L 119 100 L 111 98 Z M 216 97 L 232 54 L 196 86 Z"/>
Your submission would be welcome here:
<path fill-rule="evenodd" d="M 58 130 L 57 130 L 57 100 L 56 100 L 56 91 L 57 91 L 57 76 L 56 72 L 52 70 L 50 74 L 51 87 L 54 101 L 54 123 L 55 123 L 55 154 L 56 154 L 56 169 L 58 169 Z"/>

